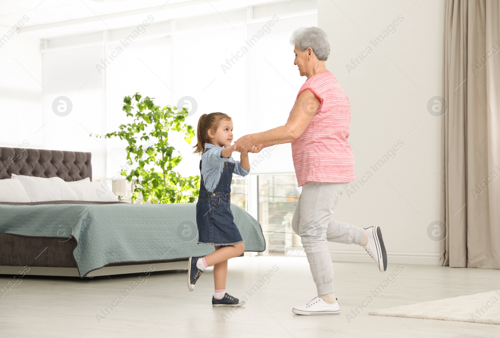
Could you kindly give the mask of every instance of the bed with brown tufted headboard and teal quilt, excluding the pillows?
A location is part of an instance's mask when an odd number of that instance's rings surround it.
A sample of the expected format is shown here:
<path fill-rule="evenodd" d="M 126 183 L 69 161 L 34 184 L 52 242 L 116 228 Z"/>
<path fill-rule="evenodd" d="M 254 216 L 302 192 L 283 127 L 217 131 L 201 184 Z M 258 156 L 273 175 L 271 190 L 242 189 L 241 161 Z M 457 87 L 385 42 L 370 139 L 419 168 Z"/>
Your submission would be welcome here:
<path fill-rule="evenodd" d="M 91 153 L 0 147 L 0 180 L 12 174 L 91 180 Z M 264 251 L 260 224 L 230 208 L 245 251 Z M 190 256 L 214 250 L 196 242 L 195 203 L 0 203 L 0 274 L 87 278 L 186 269 Z"/>

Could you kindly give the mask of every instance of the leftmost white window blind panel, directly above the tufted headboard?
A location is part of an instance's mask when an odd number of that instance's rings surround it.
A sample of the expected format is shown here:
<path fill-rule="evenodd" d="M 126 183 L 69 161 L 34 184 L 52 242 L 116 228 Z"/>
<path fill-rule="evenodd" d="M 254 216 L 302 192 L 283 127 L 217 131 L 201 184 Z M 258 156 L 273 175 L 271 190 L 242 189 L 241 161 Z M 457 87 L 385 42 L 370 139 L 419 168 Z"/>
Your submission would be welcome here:
<path fill-rule="evenodd" d="M 49 48 L 43 50 L 42 149 L 92 153 L 92 178 L 104 176 L 106 141 L 91 138 L 105 132 L 103 73 L 97 72 L 102 45 Z M 64 96 L 71 111 L 56 115 L 52 102 Z"/>

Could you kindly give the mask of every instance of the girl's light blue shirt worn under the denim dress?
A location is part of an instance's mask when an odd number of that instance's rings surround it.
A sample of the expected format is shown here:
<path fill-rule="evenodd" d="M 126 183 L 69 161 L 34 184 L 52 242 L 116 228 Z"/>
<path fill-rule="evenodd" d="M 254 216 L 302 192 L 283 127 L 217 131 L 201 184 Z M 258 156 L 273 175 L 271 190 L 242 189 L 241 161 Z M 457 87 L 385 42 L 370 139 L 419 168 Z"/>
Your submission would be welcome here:
<path fill-rule="evenodd" d="M 243 169 L 239 161 L 235 161 L 232 156 L 222 157 L 221 152 L 225 147 L 226 146 L 219 147 L 215 144 L 205 143 L 205 151 L 203 155 L 201 155 L 201 176 L 203 177 L 205 189 L 209 192 L 213 192 L 217 187 L 217 183 L 224 170 L 224 162 L 234 163 L 233 174 L 246 176 L 250 172 L 249 170 Z"/>

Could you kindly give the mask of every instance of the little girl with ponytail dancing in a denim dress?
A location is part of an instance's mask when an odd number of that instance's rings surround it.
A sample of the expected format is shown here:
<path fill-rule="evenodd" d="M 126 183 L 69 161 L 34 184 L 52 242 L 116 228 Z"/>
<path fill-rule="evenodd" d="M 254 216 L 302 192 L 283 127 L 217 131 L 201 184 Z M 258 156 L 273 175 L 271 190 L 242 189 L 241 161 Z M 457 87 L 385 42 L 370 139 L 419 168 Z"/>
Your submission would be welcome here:
<path fill-rule="evenodd" d="M 199 161 L 201 183 L 196 203 L 198 244 L 213 245 L 215 251 L 203 258 L 189 258 L 187 287 L 192 291 L 203 270 L 213 265 L 215 292 L 212 306 L 240 307 L 245 301 L 225 292 L 227 260 L 241 255 L 245 250 L 230 209 L 231 179 L 233 172 L 240 176 L 248 175 L 248 151 L 254 149 L 240 153 L 241 163 L 233 160 L 232 121 L 224 113 L 201 115 L 196 134 L 194 153 L 202 154 Z"/>

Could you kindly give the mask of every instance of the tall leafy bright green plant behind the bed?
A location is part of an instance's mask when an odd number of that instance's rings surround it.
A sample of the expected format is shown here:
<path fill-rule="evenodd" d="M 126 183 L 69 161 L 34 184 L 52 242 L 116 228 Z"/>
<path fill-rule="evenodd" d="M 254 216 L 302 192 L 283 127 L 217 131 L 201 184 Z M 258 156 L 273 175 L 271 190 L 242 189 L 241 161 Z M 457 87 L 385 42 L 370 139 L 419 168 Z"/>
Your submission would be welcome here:
<path fill-rule="evenodd" d="M 132 97 L 135 105 L 132 105 Z M 128 182 L 135 181 L 132 202 L 142 197 L 141 203 L 193 203 L 199 196 L 200 177 L 184 178 L 172 170 L 182 161 L 182 156 L 172 156 L 175 148 L 168 144 L 170 131 L 183 133 L 184 140 L 191 144 L 195 133 L 194 128 L 184 122 L 188 111 L 182 108 L 177 112 L 175 106 L 160 107 L 153 100 L 154 97 L 142 98 L 138 92 L 123 97 L 122 111 L 132 117 L 132 121 L 121 124 L 119 131 L 104 137 L 119 137 L 127 142 L 125 159 L 130 169 L 121 170 L 120 174 Z M 147 146 L 142 144 L 144 141 Z"/>

